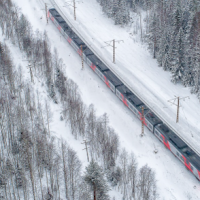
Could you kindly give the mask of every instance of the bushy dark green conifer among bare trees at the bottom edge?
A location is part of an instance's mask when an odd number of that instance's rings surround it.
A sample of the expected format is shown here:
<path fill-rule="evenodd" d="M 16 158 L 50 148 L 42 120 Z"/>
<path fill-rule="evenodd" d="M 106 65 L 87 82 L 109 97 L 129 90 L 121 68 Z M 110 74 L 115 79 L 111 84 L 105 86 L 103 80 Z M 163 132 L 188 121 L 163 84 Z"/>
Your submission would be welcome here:
<path fill-rule="evenodd" d="M 102 168 L 98 163 L 92 160 L 84 176 L 85 182 L 90 185 L 91 191 L 93 191 L 94 200 L 109 200 L 107 192 L 109 191 Z"/>

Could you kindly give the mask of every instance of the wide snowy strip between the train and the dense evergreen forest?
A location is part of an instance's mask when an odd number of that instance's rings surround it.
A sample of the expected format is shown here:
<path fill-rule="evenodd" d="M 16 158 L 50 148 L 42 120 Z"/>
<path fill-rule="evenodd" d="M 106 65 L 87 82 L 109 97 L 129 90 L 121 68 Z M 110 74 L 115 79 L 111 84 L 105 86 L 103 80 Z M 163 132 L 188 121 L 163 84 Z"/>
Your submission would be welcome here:
<path fill-rule="evenodd" d="M 133 33 L 133 27 L 124 29 L 113 25 L 113 21 L 103 14 L 96 0 L 85 0 L 76 4 L 77 21 L 73 19 L 73 7 L 63 7 L 64 0 L 55 0 L 55 2 L 99 56 L 174 130 L 200 152 L 198 99 L 195 95 L 191 95 L 190 88 L 184 88 L 179 84 L 174 85 L 170 81 L 170 73 L 158 67 L 156 60 L 152 59 L 145 46 L 140 42 L 134 42 L 130 34 Z M 112 63 L 112 48 L 101 48 L 105 46 L 105 41 L 113 39 L 124 41 L 116 44 L 116 64 Z M 175 96 L 190 97 L 185 101 L 181 100 L 178 124 L 176 123 L 177 108 L 168 102 Z"/>

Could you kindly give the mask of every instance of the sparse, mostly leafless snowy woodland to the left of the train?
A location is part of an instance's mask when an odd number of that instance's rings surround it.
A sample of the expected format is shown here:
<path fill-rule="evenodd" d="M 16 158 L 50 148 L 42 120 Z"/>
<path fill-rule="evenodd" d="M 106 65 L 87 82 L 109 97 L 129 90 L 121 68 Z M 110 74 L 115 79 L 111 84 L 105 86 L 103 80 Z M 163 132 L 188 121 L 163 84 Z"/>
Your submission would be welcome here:
<path fill-rule="evenodd" d="M 111 189 L 124 200 L 157 199 L 155 172 L 138 167 L 134 154 L 121 148 L 106 113 L 97 116 L 94 105 L 84 104 L 48 34 L 33 30 L 11 0 L 0 0 L 0 13 L 0 199 L 109 200 Z M 8 43 L 29 61 L 29 80 Z M 34 89 L 37 81 L 46 99 Z M 85 169 L 73 146 L 52 133 L 51 103 L 62 108 L 60 120 L 70 134 L 87 140 Z"/>

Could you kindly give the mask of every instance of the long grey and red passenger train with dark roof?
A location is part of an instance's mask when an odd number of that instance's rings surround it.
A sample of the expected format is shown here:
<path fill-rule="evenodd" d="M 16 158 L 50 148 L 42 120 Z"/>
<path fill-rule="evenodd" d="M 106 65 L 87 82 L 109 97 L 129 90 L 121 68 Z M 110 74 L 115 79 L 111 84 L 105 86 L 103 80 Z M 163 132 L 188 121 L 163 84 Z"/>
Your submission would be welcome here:
<path fill-rule="evenodd" d="M 48 10 L 48 18 L 55 24 L 66 41 L 87 63 L 107 87 L 130 109 L 164 146 L 178 158 L 200 181 L 200 157 L 175 132 L 151 111 L 113 72 L 84 41 L 72 30 L 55 8 Z"/>

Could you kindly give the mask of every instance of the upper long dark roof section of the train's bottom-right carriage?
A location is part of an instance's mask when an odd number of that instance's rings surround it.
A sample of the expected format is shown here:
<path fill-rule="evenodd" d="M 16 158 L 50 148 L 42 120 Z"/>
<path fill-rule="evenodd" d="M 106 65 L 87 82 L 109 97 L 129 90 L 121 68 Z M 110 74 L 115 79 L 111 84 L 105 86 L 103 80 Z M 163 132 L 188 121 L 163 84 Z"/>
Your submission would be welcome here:
<path fill-rule="evenodd" d="M 165 124 L 157 126 L 157 129 L 164 134 L 169 141 L 173 143 L 179 150 L 187 147 L 186 143 L 183 142 L 171 129 L 169 129 Z"/>

